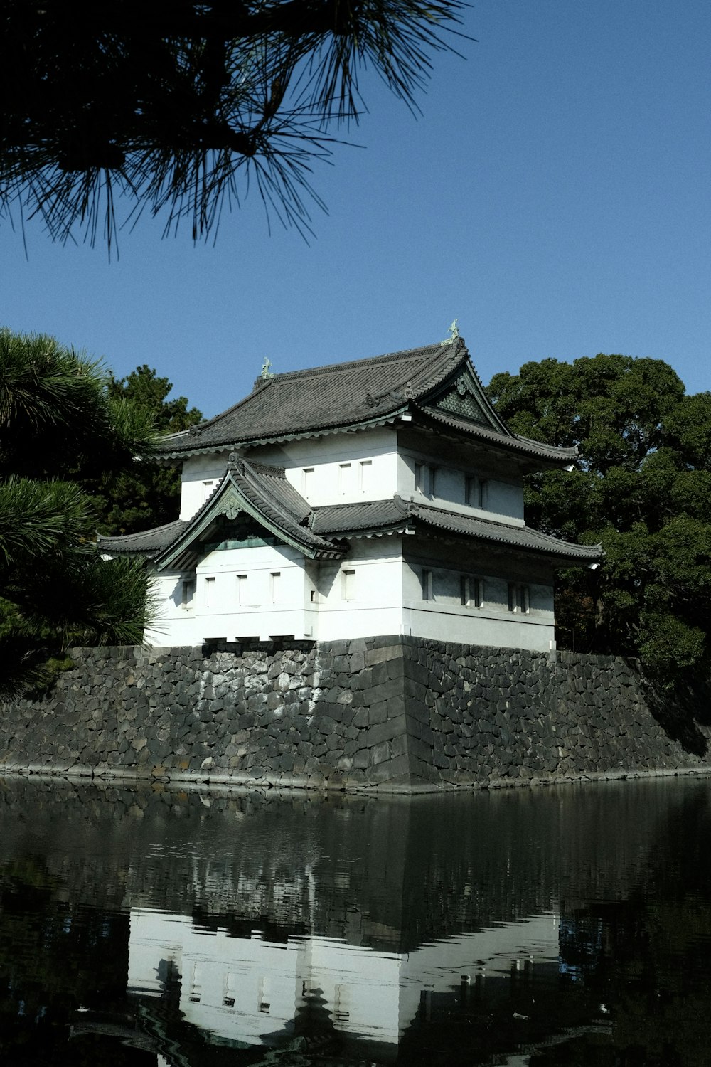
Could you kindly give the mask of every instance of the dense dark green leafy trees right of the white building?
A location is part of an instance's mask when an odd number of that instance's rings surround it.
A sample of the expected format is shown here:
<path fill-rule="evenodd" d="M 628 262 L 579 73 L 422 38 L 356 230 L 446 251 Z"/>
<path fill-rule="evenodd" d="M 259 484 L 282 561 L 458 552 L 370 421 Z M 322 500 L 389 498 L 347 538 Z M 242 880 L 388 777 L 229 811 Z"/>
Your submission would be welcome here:
<path fill-rule="evenodd" d="M 601 541 L 598 571 L 556 592 L 562 646 L 641 657 L 669 684 L 700 667 L 711 635 L 711 394 L 686 396 L 662 360 L 527 363 L 488 393 L 512 430 L 577 445 L 571 473 L 528 479 L 532 526 Z"/>

